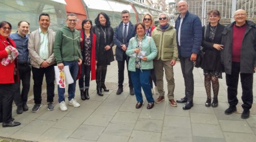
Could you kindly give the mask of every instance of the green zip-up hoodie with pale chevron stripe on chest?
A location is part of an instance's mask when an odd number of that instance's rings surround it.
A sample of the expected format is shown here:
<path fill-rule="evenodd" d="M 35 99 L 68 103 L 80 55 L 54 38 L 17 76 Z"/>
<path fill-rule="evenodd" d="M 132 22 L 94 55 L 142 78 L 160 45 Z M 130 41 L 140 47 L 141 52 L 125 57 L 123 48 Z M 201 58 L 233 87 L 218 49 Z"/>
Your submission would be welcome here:
<path fill-rule="evenodd" d="M 63 26 L 55 34 L 53 51 L 58 64 L 63 61 L 77 61 L 79 58 L 83 60 L 80 50 L 80 32 Z"/>

